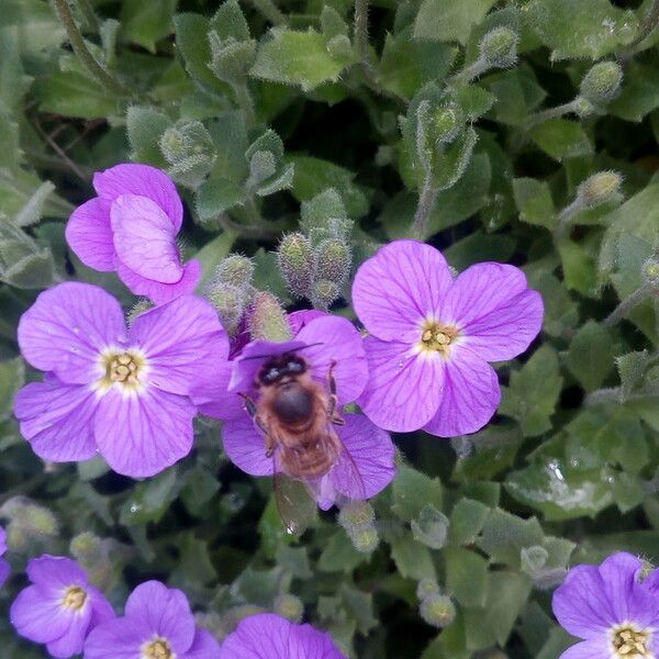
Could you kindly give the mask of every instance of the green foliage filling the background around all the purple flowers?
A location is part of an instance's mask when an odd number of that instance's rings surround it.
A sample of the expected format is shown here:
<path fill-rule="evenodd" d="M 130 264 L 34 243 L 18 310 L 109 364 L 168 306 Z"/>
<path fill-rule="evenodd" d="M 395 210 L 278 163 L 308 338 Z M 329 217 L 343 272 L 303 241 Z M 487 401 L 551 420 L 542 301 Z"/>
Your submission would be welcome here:
<path fill-rule="evenodd" d="M 0 0 L 0 513 L 18 572 L 0 593 L 3 657 L 43 656 L 5 615 L 42 550 L 76 556 L 116 605 L 147 578 L 180 587 L 219 634 L 290 592 L 362 659 L 557 657 L 570 639 L 549 602 L 567 565 L 616 549 L 659 562 L 658 303 L 643 278 L 659 233 L 657 2 L 375 0 L 368 41 L 351 0 L 250 0 L 244 19 L 237 3 L 215 15 L 204 0 L 71 2 L 100 72 L 72 52 L 55 4 Z M 520 34 L 518 62 L 450 97 L 478 142 L 447 166 L 459 178 L 424 237 L 458 270 L 523 267 L 545 327 L 527 355 L 498 365 L 504 398 L 487 429 L 395 437 L 400 472 L 373 502 L 375 551 L 357 551 L 333 513 L 301 541 L 287 536 L 270 484 L 234 468 L 204 420 L 194 453 L 144 482 L 32 454 L 11 416 L 14 392 L 37 377 L 18 355 L 21 313 L 64 279 L 135 302 L 64 242 L 94 170 L 130 159 L 167 169 L 187 203 L 186 253 L 206 276 L 239 252 L 254 257 L 258 289 L 304 306 L 273 255 L 299 230 L 301 202 L 336 190 L 355 222 L 353 269 L 409 235 L 423 189 L 410 130 L 420 102 L 437 107 L 501 25 Z M 603 58 L 624 68 L 613 101 L 535 115 L 572 102 Z M 572 206 L 558 228 L 579 185 L 603 170 L 623 175 L 624 198 Z M 322 203 L 305 208 L 313 228 Z M 345 276 L 334 309 L 354 317 Z M 626 319 L 604 323 L 630 294 L 640 302 Z M 426 578 L 457 605 L 443 630 L 420 616 Z"/>

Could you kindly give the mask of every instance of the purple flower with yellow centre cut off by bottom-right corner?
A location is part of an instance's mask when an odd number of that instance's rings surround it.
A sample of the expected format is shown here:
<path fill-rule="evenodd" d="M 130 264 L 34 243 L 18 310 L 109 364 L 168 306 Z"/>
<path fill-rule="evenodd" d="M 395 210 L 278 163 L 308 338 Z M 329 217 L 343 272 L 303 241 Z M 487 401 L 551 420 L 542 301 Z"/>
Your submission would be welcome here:
<path fill-rule="evenodd" d="M 600 567 L 577 566 L 554 593 L 554 614 L 582 638 L 560 659 L 659 657 L 659 570 L 640 581 L 643 561 L 621 551 Z"/>

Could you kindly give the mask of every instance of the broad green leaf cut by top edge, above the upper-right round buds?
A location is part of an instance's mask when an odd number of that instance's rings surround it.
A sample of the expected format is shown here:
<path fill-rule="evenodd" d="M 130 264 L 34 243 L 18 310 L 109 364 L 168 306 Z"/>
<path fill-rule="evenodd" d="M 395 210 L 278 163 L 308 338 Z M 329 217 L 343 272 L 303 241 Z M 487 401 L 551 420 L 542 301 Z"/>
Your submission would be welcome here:
<path fill-rule="evenodd" d="M 638 26 L 633 11 L 608 0 L 532 0 L 524 5 L 523 16 L 554 51 L 552 59 L 599 59 L 628 44 Z"/>

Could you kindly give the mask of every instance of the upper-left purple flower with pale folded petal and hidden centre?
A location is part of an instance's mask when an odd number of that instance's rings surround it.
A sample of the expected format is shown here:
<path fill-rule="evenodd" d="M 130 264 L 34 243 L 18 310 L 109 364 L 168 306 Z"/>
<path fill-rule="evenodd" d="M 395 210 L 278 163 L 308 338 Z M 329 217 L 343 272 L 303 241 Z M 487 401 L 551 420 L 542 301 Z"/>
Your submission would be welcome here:
<path fill-rule="evenodd" d="M 171 179 L 148 165 L 116 165 L 93 175 L 98 197 L 77 208 L 66 239 L 80 260 L 116 270 L 137 295 L 156 304 L 191 293 L 201 265 L 181 264 L 176 235 L 183 206 Z"/>

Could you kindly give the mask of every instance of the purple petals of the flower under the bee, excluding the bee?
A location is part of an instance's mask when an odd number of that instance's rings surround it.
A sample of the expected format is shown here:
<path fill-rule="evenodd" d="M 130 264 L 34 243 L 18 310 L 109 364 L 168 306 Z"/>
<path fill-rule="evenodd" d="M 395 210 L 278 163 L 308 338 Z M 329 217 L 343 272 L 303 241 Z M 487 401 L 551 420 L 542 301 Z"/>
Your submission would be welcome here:
<path fill-rule="evenodd" d="M 336 386 L 337 409 L 354 401 L 368 379 L 364 342 L 345 319 L 322 314 L 299 316 L 300 330 L 293 340 L 248 344 L 233 361 L 223 366 L 221 377 L 199 383 L 193 400 L 199 411 L 221 418 L 224 450 L 243 471 L 253 476 L 273 476 L 283 471 L 304 480 L 323 510 L 338 496 L 368 499 L 384 489 L 395 474 L 394 447 L 389 435 L 358 414 L 345 415 L 345 425 L 327 428 L 336 433 L 343 447 L 332 467 L 317 478 L 300 478 L 283 462 L 281 447 L 268 455 L 264 432 L 245 411 L 238 393 L 250 396 L 258 406 L 264 389 L 256 378 L 264 365 L 279 355 L 302 359 L 313 381 L 328 393 L 328 376 Z M 326 411 L 324 411 L 326 412 Z M 268 422 L 266 422 L 267 424 Z M 264 428 L 268 431 L 268 428 Z M 266 433 L 269 434 L 269 433 Z"/>

